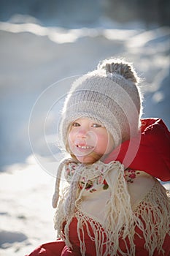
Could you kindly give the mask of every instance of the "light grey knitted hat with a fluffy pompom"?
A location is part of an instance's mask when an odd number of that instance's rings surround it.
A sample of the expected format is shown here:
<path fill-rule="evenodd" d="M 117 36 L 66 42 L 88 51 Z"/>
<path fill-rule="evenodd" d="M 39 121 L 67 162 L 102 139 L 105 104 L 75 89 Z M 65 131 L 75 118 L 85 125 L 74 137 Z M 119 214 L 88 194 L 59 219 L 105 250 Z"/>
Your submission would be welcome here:
<path fill-rule="evenodd" d="M 138 77 L 124 61 L 106 59 L 93 72 L 75 80 L 66 98 L 61 118 L 61 138 L 66 146 L 72 121 L 90 118 L 106 127 L 115 147 L 139 130 L 141 96 Z"/>

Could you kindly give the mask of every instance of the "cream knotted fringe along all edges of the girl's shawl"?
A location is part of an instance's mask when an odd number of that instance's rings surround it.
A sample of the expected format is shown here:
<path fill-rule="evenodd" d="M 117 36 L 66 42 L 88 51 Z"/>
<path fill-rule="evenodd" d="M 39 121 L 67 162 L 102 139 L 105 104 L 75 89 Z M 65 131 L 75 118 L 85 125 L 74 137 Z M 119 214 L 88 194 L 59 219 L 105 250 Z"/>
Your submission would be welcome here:
<path fill-rule="evenodd" d="M 82 256 L 85 256 L 87 245 L 85 232 L 94 242 L 96 255 L 98 256 L 135 256 L 134 235 L 144 238 L 144 248 L 148 251 L 149 256 L 152 256 L 155 251 L 163 255 L 163 241 L 166 234 L 170 236 L 170 203 L 168 194 L 166 195 L 166 189 L 159 181 L 155 181 L 150 192 L 133 210 L 128 186 L 124 178 L 123 165 L 115 165 L 115 169 L 117 167 L 119 167 L 118 170 L 109 172 L 106 178 L 107 184 L 111 188 L 111 197 L 106 203 L 104 225 L 82 213 L 79 207 L 82 192 L 71 195 L 69 186 L 64 189 L 63 196 L 60 197 L 54 217 L 55 230 L 58 230 L 58 237 L 63 238 L 66 245 L 72 248 L 72 244 L 69 241 L 69 225 L 72 222 L 72 218 L 76 217 L 77 236 L 80 240 Z M 75 179 L 73 180 L 75 181 Z M 76 181 L 71 184 L 71 186 L 74 186 L 74 192 L 77 190 L 77 184 L 78 182 Z M 74 202 L 70 201 L 72 197 L 74 197 Z M 75 206 L 77 208 L 76 211 Z M 64 235 L 63 223 L 66 223 Z M 142 233 L 141 236 L 136 233 L 136 227 L 139 228 L 139 233 Z M 126 248 L 125 252 L 120 248 L 119 239 L 123 240 Z"/>

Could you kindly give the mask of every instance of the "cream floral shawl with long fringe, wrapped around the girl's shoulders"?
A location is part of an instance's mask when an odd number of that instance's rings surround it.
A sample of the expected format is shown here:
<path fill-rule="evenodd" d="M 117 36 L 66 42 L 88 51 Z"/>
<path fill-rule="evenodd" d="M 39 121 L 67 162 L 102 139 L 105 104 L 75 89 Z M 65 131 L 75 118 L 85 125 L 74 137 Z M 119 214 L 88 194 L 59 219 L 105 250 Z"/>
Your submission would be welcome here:
<path fill-rule="evenodd" d="M 65 166 L 65 178 L 69 186 L 66 186 L 60 195 L 63 166 Z M 72 218 L 77 217 L 77 234 L 80 239 L 82 255 L 85 255 L 85 239 L 80 237 L 80 233 L 82 236 L 84 234 L 83 225 L 85 225 L 90 238 L 95 242 L 98 256 L 117 255 L 117 253 L 119 255 L 135 255 L 134 233 L 136 227 L 139 227 L 144 233 L 145 246 L 149 255 L 152 255 L 156 248 L 161 252 L 166 233 L 170 233 L 168 231 L 170 206 L 161 184 L 155 182 L 154 187 L 157 190 L 155 194 L 158 192 L 162 197 L 159 202 L 161 208 L 157 208 L 155 211 L 158 197 L 151 191 L 152 195 L 150 194 L 148 198 L 145 197 L 144 203 L 139 203 L 133 211 L 128 185 L 125 181 L 124 167 L 120 162 L 112 161 L 109 164 L 104 164 L 98 161 L 93 165 L 83 165 L 74 162 L 73 159 L 64 160 L 58 168 L 53 196 L 53 207 L 58 206 L 55 214 L 55 229 L 58 230 L 58 236 L 63 238 L 63 222 L 66 222 L 64 240 L 66 245 L 72 248 L 72 244 L 69 242 L 69 225 Z M 155 224 L 151 215 L 158 223 L 156 230 L 161 233 L 159 239 L 154 236 Z M 150 220 L 148 216 L 150 216 Z M 93 235 L 90 234 L 89 224 Z M 147 228 L 144 228 L 144 225 Z M 152 241 L 150 241 L 151 235 Z M 120 237 L 127 247 L 127 253 L 120 249 Z M 105 251 L 103 251 L 104 245 Z"/>

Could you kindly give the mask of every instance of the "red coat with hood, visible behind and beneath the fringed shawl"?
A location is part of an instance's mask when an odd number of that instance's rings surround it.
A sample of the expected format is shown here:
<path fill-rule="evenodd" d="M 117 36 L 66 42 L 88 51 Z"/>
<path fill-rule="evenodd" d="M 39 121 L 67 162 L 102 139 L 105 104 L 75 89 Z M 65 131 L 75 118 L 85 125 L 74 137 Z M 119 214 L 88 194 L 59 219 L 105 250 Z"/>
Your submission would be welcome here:
<path fill-rule="evenodd" d="M 133 139 L 133 143 L 135 146 L 135 138 Z M 120 147 L 112 151 L 104 162 L 109 163 L 112 160 L 119 160 L 120 162 L 123 162 L 125 167 L 130 167 L 134 170 L 143 170 L 146 173 L 161 179 L 161 181 L 170 180 L 170 132 L 161 119 L 142 119 L 142 136 L 140 146 L 130 165 L 126 165 L 128 159 L 124 161 L 125 153 L 128 150 L 128 145 L 129 141 L 125 141 Z M 117 155 L 118 151 L 120 152 Z M 76 230 L 77 219 L 74 218 L 70 225 L 69 233 L 69 239 L 74 244 L 74 252 L 70 251 L 63 241 L 58 240 L 39 246 L 28 256 L 79 256 L 80 242 L 77 237 Z M 86 256 L 96 256 L 95 246 L 93 241 L 91 241 L 88 237 L 87 232 L 85 232 L 85 241 L 87 241 L 87 244 L 89 245 L 86 246 Z M 148 252 L 144 249 L 144 239 L 139 238 L 139 236 L 135 236 L 134 241 L 136 244 L 136 255 L 148 256 Z M 123 248 L 121 241 L 120 247 Z M 170 237 L 168 235 L 164 241 L 163 249 L 166 252 L 164 256 L 169 256 Z M 155 252 L 154 256 L 158 256 L 158 252 Z"/>

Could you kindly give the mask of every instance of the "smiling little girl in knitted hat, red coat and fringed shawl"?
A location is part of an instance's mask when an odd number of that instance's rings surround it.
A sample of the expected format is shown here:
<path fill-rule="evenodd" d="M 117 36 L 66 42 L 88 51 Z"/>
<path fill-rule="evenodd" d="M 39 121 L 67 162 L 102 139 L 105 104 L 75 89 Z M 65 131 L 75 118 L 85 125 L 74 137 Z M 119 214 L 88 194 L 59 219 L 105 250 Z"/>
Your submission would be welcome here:
<path fill-rule="evenodd" d="M 58 239 L 30 254 L 170 254 L 170 133 L 159 118 L 140 119 L 139 78 L 107 59 L 76 80 L 64 104 L 63 159 L 53 196 Z M 66 186 L 61 193 L 61 174 Z"/>

